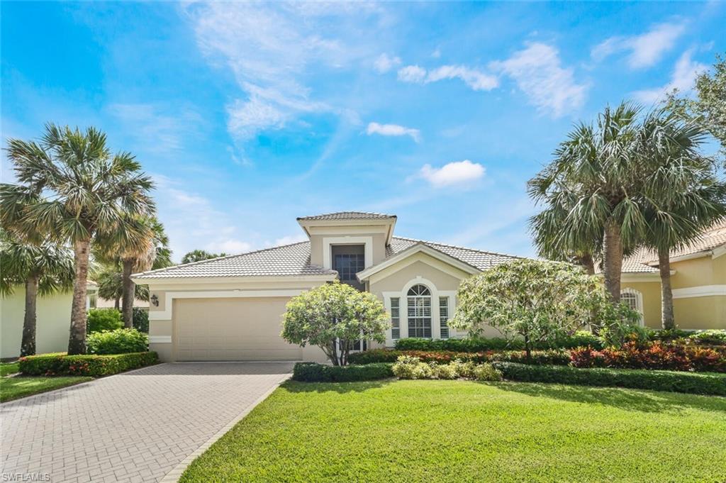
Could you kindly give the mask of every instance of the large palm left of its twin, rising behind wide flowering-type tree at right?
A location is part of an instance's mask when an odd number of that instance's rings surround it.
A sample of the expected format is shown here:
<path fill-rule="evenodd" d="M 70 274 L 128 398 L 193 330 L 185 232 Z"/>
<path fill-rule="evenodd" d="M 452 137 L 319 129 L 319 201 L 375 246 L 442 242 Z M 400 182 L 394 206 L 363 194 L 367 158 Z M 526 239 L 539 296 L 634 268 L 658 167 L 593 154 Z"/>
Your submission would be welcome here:
<path fill-rule="evenodd" d="M 635 244 L 645 232 L 635 198 L 643 184 L 637 156 L 640 110 L 622 102 L 605 107 L 594 125 L 580 123 L 552 163 L 529 182 L 530 194 L 540 202 L 566 191 L 561 206 L 567 213 L 555 219 L 561 222 L 561 245 L 592 248 L 592 240 L 603 234 L 603 275 L 612 301 L 620 300 L 624 245 Z"/>

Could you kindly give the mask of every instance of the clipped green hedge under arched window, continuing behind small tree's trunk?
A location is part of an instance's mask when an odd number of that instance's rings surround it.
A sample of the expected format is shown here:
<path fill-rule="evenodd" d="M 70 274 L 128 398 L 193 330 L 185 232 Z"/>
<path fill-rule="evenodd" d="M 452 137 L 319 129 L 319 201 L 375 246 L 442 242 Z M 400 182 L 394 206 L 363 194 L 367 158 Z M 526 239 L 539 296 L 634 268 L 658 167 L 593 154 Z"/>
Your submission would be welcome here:
<path fill-rule="evenodd" d="M 537 349 L 574 349 L 590 346 L 600 349 L 603 342 L 586 330 L 578 330 L 574 335 L 560 338 L 550 343 L 535 344 Z M 486 352 L 502 350 L 523 350 L 524 342 L 520 339 L 508 340 L 500 337 L 476 338 L 399 338 L 396 349 L 409 351 L 452 351 L 452 352 Z"/>

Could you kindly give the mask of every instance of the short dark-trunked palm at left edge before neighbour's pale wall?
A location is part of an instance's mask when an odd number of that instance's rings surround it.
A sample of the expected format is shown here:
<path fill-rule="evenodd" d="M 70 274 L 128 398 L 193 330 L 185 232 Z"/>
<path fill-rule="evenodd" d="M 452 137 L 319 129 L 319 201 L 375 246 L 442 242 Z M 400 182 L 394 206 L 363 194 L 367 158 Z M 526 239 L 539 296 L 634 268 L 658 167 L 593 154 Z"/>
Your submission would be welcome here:
<path fill-rule="evenodd" d="M 36 353 L 36 303 L 41 296 L 73 285 L 73 254 L 54 243 L 33 244 L 0 228 L 0 294 L 25 285 L 25 317 L 20 356 Z"/>

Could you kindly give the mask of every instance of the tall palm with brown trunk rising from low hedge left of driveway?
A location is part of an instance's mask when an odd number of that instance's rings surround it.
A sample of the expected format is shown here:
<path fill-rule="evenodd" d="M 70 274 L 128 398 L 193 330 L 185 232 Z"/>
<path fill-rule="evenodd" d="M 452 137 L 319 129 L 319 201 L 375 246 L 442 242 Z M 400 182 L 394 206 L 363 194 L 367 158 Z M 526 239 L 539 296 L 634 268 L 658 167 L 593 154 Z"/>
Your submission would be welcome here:
<path fill-rule="evenodd" d="M 33 224 L 73 245 L 76 276 L 68 354 L 83 354 L 91 243 L 121 232 L 127 245 L 142 244 L 127 220 L 154 212 L 153 183 L 133 155 L 113 155 L 106 135 L 93 127 L 81 131 L 47 124 L 40 142 L 9 139 L 8 144 L 8 156 L 22 184 L 0 185 L 0 216 Z"/>

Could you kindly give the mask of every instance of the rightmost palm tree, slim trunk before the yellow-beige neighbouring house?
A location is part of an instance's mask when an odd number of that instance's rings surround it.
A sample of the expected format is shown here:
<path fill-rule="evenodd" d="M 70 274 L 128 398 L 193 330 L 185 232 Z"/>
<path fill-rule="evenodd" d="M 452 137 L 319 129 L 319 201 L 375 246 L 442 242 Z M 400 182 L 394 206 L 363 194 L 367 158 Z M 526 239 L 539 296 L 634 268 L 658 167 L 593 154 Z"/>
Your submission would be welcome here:
<path fill-rule="evenodd" d="M 643 121 L 645 245 L 658 253 L 664 329 L 675 328 L 670 252 L 726 216 L 726 182 L 717 175 L 717 163 L 701 155 L 705 141 L 706 131 L 698 123 L 683 121 L 672 110 L 656 110 Z"/>

